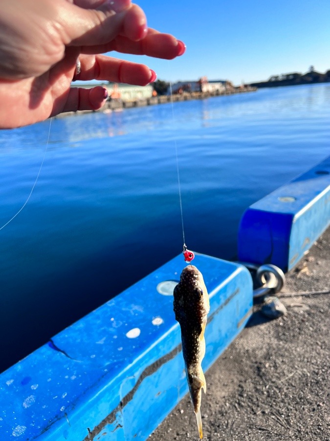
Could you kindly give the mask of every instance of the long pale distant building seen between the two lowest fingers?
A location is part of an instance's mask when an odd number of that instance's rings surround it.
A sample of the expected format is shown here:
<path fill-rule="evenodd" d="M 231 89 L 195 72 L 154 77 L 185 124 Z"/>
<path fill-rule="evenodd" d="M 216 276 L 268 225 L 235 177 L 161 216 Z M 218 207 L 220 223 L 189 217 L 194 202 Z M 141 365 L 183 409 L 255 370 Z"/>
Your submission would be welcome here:
<path fill-rule="evenodd" d="M 137 101 L 138 99 L 151 98 L 153 96 L 153 86 L 148 84 L 147 86 L 134 86 L 132 84 L 124 83 L 73 83 L 72 87 L 84 87 L 90 89 L 95 86 L 102 86 L 108 90 L 109 97 L 111 95 L 113 99 L 121 99 L 122 101 Z"/>

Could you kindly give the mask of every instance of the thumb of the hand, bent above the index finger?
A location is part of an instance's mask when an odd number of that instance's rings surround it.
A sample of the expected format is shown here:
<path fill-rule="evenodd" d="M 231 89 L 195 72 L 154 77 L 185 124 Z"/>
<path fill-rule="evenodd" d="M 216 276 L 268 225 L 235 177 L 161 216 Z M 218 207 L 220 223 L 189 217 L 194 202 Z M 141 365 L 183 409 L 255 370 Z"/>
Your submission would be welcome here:
<path fill-rule="evenodd" d="M 86 1 L 84 2 L 86 4 Z M 122 4 L 122 2 L 120 2 Z M 59 26 L 66 46 L 94 46 L 109 43 L 119 34 L 132 41 L 147 33 L 147 19 L 136 4 L 115 12 L 116 1 L 106 1 L 98 9 L 86 9 L 69 2 L 62 3 Z"/>

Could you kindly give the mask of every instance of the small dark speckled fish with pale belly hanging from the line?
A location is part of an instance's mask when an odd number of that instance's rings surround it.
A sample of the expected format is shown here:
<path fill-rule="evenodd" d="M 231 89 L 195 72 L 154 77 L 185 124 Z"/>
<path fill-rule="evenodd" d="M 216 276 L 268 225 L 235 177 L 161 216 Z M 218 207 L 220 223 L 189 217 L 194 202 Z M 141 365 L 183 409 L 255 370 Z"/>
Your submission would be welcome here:
<path fill-rule="evenodd" d="M 210 302 L 203 276 L 196 267 L 188 265 L 183 269 L 173 294 L 173 309 L 181 328 L 182 354 L 190 396 L 199 437 L 203 438 L 200 402 L 201 390 L 206 393 L 206 381 L 201 362 L 205 355 L 204 332 Z"/>

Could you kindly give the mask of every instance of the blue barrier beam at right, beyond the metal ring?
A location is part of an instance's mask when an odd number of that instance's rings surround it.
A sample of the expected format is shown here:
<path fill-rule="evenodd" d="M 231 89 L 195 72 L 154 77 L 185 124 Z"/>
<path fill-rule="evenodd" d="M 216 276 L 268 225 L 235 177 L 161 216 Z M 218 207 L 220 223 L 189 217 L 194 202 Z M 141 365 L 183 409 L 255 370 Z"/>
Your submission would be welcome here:
<path fill-rule="evenodd" d="M 290 270 L 329 224 L 330 157 L 245 211 L 239 260 Z"/>

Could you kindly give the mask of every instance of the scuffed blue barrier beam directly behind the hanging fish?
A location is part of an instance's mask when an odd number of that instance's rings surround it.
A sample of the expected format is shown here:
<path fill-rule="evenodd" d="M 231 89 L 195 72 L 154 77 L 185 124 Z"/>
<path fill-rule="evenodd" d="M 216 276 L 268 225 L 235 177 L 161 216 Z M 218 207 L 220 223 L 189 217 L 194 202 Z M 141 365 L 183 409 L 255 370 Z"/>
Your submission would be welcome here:
<path fill-rule="evenodd" d="M 195 262 L 210 294 L 206 370 L 249 319 L 252 282 L 240 265 Z M 145 440 L 188 391 L 173 312 L 184 265 L 177 256 L 3 372 L 1 441 Z"/>

